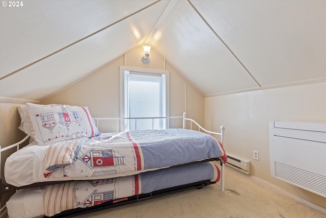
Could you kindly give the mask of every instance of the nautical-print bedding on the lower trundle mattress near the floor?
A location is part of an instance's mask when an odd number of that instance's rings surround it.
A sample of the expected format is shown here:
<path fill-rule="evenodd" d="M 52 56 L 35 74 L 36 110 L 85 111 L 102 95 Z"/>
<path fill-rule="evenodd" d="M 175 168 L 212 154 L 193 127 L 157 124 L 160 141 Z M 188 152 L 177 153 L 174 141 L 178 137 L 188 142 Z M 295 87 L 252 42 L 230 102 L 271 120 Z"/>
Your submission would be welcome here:
<path fill-rule="evenodd" d="M 150 193 L 203 180 L 217 182 L 219 179 L 218 162 L 212 161 L 159 169 L 111 180 L 76 181 L 73 182 L 74 188 L 71 193 L 75 198 L 69 197 L 74 199 L 73 206 L 68 209 L 90 207 L 108 200 Z M 63 185 L 71 184 L 70 182 L 18 190 L 7 202 L 9 218 L 42 217 L 44 215 L 55 215 L 63 211 L 62 205 L 59 205 L 65 202 L 62 197 L 47 198 L 47 196 L 53 196 L 53 191 L 60 192 Z M 51 206 L 44 207 L 48 202 L 50 202 Z M 57 209 L 52 206 L 55 203 L 58 206 Z"/>

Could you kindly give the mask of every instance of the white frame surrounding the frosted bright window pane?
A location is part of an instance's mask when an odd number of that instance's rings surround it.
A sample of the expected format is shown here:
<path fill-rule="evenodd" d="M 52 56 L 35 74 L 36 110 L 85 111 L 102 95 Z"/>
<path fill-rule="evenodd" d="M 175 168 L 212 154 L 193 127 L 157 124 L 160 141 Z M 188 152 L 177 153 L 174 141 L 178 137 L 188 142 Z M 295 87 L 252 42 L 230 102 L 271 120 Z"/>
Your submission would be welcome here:
<path fill-rule="evenodd" d="M 166 117 L 169 116 L 169 108 L 170 108 L 170 86 L 169 86 L 169 70 L 162 70 L 162 69 L 150 69 L 150 68 L 141 68 L 141 67 L 129 67 L 129 66 L 120 66 L 120 117 L 125 117 L 125 105 L 127 104 L 127 100 L 125 99 L 126 93 L 126 86 L 125 86 L 125 71 L 132 71 L 132 72 L 139 72 L 140 74 L 164 74 L 166 77 Z M 120 123 L 120 131 L 125 131 L 125 121 L 121 120 Z M 169 128 L 168 119 L 166 123 L 166 128 Z"/>

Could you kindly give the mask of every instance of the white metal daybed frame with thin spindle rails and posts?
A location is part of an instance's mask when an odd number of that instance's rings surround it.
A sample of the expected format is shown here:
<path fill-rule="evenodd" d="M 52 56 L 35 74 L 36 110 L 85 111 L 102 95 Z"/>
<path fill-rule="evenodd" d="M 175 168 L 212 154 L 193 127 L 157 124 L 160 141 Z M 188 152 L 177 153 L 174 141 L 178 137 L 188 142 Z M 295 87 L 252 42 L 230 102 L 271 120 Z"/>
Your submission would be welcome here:
<path fill-rule="evenodd" d="M 212 134 L 212 135 L 220 135 L 221 137 L 221 143 L 223 144 L 223 147 L 225 148 L 225 144 L 224 144 L 224 131 L 225 131 L 225 127 L 222 125 L 220 127 L 221 129 L 221 132 L 218 133 L 218 132 L 212 132 L 212 131 L 208 131 L 206 130 L 205 128 L 203 128 L 202 126 L 200 126 L 194 119 L 191 119 L 191 118 L 186 118 L 186 112 L 183 113 L 183 116 L 170 116 L 170 117 L 128 117 L 128 118 L 125 118 L 125 117 L 117 117 L 117 118 L 93 118 L 96 122 L 96 126 L 97 126 L 97 129 L 99 128 L 99 122 L 100 120 L 117 120 L 117 132 L 119 132 L 120 130 L 120 126 L 121 126 L 121 120 L 124 120 L 124 119 L 134 119 L 135 120 L 135 128 L 137 129 L 137 120 L 138 119 L 152 119 L 152 129 L 153 129 L 153 125 L 154 125 L 154 120 L 155 119 L 167 119 L 169 121 L 169 119 L 175 119 L 175 118 L 182 118 L 183 119 L 183 124 L 182 124 L 182 128 L 183 129 L 186 129 L 187 128 L 187 121 L 190 122 L 190 127 L 189 129 L 193 129 L 193 123 L 198 127 L 198 130 L 197 131 L 202 131 L 206 134 Z M 169 123 L 169 122 L 168 122 Z M 169 127 L 168 127 L 169 128 Z M 1 153 L 4 152 L 4 151 L 7 151 L 9 149 L 12 149 L 12 148 L 15 148 L 16 147 L 16 151 L 19 150 L 19 146 L 20 144 L 22 144 L 24 141 L 26 141 L 30 136 L 27 135 L 25 136 L 23 139 L 21 139 L 20 141 L 14 143 L 14 144 L 11 144 L 10 146 L 7 146 L 5 148 L 1 148 L 0 146 L 0 163 L 1 163 Z M 224 178 L 224 173 L 225 173 L 225 164 L 221 161 L 221 191 L 224 191 L 225 190 L 225 178 Z M 0 183 L 1 183 L 1 180 L 0 180 Z M 7 191 L 9 189 L 11 189 L 10 186 L 4 186 L 2 183 L 1 183 L 1 187 L 0 189 L 4 190 L 4 191 Z M 2 200 L 2 199 L 0 199 Z M 7 210 L 6 208 L 6 205 L 3 206 L 1 209 L 0 209 L 0 217 L 3 216 L 3 213 L 5 213 Z"/>

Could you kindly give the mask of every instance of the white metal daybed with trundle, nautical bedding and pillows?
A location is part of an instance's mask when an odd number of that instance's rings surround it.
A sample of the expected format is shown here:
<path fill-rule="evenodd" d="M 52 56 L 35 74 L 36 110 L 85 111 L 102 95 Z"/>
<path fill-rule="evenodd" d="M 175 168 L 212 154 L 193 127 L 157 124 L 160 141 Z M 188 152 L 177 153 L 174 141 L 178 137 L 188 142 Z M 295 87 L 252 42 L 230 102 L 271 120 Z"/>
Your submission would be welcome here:
<path fill-rule="evenodd" d="M 220 180 L 224 191 L 224 127 L 210 132 L 184 114 L 183 128 L 101 133 L 87 107 L 26 103 L 18 112 L 31 139 L 6 160 L 10 218 L 69 217 Z"/>

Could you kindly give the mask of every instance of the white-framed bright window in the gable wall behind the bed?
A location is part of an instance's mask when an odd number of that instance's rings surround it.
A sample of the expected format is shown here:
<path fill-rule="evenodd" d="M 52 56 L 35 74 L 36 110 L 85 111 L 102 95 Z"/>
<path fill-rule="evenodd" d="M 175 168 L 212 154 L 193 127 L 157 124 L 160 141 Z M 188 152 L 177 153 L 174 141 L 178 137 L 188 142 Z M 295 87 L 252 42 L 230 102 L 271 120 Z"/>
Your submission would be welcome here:
<path fill-rule="evenodd" d="M 169 115 L 169 71 L 120 67 L 121 117 Z M 135 119 L 121 123 L 121 131 L 166 129 L 166 119 Z"/>

